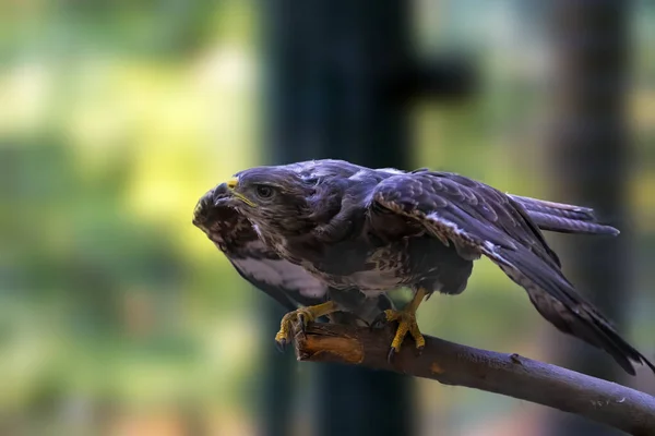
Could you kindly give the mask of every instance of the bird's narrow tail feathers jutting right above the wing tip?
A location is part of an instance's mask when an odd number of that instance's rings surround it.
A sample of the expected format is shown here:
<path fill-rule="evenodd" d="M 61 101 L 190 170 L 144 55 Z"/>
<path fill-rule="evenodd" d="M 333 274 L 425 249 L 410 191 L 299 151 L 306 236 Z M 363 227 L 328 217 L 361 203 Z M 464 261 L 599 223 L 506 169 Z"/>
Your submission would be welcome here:
<path fill-rule="evenodd" d="M 558 233 L 619 234 L 619 230 L 598 222 L 594 209 L 508 194 L 519 203 L 541 230 Z"/>

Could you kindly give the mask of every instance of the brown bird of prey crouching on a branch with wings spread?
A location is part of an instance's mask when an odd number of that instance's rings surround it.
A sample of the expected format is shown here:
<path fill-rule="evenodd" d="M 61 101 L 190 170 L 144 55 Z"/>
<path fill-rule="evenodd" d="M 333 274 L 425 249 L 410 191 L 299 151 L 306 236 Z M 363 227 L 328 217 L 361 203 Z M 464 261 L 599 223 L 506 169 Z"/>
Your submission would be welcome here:
<path fill-rule="evenodd" d="M 193 223 L 239 274 L 290 310 L 275 339 L 337 312 L 397 322 L 390 359 L 433 292 L 464 291 L 473 264 L 491 259 L 560 331 L 605 350 L 629 374 L 655 365 L 564 277 L 541 230 L 611 234 L 592 209 L 504 194 L 452 173 L 371 169 L 323 159 L 237 172 L 198 203 Z M 409 288 L 403 308 L 384 295 Z M 378 319 L 380 320 L 380 319 Z"/>

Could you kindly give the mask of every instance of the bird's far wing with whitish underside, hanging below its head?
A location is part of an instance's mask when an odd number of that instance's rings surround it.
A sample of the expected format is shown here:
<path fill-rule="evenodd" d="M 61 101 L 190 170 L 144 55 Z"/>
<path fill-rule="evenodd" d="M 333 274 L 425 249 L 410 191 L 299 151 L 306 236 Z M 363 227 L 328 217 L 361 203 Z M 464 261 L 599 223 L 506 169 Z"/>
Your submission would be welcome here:
<path fill-rule="evenodd" d="M 241 277 L 289 311 L 325 301 L 327 287 L 267 247 L 246 217 L 221 204 L 205 207 L 205 218 L 199 227 Z"/>

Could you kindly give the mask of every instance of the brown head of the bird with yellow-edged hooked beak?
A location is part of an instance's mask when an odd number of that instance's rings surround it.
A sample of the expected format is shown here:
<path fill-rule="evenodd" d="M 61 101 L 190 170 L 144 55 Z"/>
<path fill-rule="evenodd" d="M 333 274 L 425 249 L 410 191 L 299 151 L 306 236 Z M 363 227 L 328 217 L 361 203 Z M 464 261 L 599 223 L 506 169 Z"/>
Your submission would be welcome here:
<path fill-rule="evenodd" d="M 297 231 L 305 226 L 303 217 L 310 214 L 308 198 L 314 192 L 314 184 L 285 167 L 240 171 L 200 199 L 193 222 L 196 226 L 206 222 L 213 208 L 228 206 L 260 229 Z"/>

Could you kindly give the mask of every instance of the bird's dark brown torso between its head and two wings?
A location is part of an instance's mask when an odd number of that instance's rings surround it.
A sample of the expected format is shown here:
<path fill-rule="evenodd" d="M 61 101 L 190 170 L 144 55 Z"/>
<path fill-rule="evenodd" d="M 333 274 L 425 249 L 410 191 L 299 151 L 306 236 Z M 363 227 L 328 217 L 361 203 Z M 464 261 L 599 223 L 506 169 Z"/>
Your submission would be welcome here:
<path fill-rule="evenodd" d="M 320 164 L 320 165 L 317 165 Z M 371 195 L 383 180 L 398 170 L 373 170 L 338 161 L 296 164 L 308 178 L 322 178 L 318 198 L 338 198 L 317 204 L 321 222 L 310 234 L 285 240 L 288 258 L 336 289 L 364 292 L 390 291 L 398 287 L 425 287 L 460 293 L 473 269 L 473 259 L 426 234 L 425 229 L 398 215 L 369 220 Z"/>

